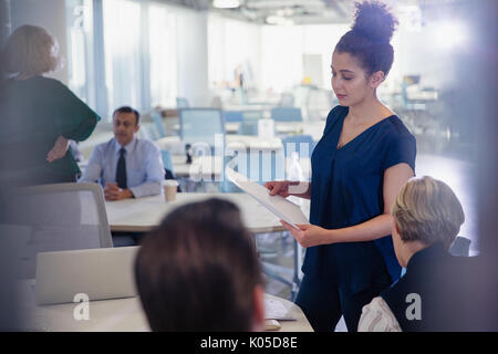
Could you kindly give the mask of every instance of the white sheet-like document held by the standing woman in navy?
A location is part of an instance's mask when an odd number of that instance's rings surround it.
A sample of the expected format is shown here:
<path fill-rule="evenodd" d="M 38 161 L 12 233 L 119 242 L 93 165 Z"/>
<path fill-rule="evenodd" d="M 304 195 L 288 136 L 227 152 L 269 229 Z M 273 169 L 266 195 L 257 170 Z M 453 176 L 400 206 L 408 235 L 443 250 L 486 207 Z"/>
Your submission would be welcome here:
<path fill-rule="evenodd" d="M 246 176 L 235 171 L 234 169 L 227 167 L 225 175 L 230 179 L 237 187 L 242 189 L 245 192 L 255 198 L 259 204 L 274 214 L 281 220 L 292 225 L 299 230 L 298 223 L 310 223 L 308 218 L 302 212 L 301 208 L 281 196 L 270 196 L 270 192 L 263 186 L 251 181 Z"/>

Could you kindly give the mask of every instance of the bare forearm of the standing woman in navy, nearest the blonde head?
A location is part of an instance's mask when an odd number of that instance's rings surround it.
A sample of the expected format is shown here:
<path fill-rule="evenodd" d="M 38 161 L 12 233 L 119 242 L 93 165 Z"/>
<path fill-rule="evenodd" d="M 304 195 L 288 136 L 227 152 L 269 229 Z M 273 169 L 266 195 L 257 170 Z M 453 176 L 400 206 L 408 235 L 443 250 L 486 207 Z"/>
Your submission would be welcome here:
<path fill-rule="evenodd" d="M 391 235 L 391 215 L 383 214 L 369 221 L 342 229 L 326 230 L 324 243 L 371 241 Z"/>

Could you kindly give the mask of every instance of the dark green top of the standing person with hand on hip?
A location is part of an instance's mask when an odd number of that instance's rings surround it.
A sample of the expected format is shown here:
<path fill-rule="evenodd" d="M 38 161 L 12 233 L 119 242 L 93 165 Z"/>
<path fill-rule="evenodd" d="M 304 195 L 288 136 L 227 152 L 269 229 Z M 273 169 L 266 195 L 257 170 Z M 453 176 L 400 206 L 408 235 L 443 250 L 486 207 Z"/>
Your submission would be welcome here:
<path fill-rule="evenodd" d="M 4 181 L 45 184 L 80 173 L 71 149 L 53 163 L 46 162 L 46 154 L 60 135 L 76 142 L 86 139 L 101 119 L 95 112 L 64 84 L 43 76 L 8 80 L 1 101 Z"/>

